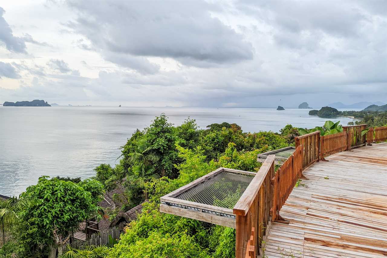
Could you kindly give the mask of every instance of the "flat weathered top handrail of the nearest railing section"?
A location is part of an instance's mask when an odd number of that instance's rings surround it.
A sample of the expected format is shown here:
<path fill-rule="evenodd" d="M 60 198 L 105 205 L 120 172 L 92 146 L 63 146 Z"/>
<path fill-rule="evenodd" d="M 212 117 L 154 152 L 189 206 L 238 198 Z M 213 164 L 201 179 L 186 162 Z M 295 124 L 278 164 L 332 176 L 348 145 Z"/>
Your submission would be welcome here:
<path fill-rule="evenodd" d="M 243 192 L 242 196 L 239 198 L 238 202 L 233 208 L 233 213 L 236 215 L 246 216 L 248 210 L 250 209 L 255 196 L 257 196 L 259 188 L 262 186 L 262 183 L 265 180 L 267 173 L 270 171 L 272 162 L 274 162 L 275 155 L 269 155 L 260 167 L 257 174 L 254 176 L 250 185 Z"/>

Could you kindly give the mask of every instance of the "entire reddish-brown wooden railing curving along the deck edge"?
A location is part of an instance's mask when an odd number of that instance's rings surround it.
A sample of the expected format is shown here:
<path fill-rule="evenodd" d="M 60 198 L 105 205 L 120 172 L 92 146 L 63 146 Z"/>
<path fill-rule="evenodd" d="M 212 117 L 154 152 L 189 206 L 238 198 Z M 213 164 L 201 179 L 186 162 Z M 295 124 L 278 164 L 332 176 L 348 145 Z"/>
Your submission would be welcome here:
<path fill-rule="evenodd" d="M 302 171 L 315 161 L 366 143 L 387 141 L 387 126 L 343 126 L 344 132 L 320 136 L 320 131 L 296 137 L 296 150 L 274 172 L 274 155 L 269 155 L 236 203 L 236 258 L 256 258 L 262 253 L 262 241 L 270 221 L 289 223 L 279 215 Z M 270 218 L 271 215 L 271 218 Z M 255 229 L 258 229 L 255 231 Z M 251 232 L 251 233 L 250 233 Z"/>

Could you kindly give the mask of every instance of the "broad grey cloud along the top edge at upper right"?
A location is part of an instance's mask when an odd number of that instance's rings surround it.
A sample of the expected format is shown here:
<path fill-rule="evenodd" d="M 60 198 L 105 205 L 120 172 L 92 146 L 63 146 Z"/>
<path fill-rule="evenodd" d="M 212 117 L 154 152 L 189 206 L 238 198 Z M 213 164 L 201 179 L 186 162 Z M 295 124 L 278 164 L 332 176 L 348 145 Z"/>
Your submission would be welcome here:
<path fill-rule="evenodd" d="M 332 36 L 359 36 L 361 24 L 368 22 L 353 1 L 333 4 L 331 1 L 240 0 L 236 6 L 248 15 L 260 15 L 267 23 L 275 22 L 278 31 L 280 28 L 291 32 L 320 30 Z"/>

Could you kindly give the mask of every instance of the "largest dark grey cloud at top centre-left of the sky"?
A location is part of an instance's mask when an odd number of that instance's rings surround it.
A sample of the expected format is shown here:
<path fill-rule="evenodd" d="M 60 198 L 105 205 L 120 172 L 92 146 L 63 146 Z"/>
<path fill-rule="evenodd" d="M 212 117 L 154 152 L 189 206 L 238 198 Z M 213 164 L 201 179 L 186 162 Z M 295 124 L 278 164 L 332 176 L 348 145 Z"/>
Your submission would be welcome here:
<path fill-rule="evenodd" d="M 205 2 L 67 1 L 78 18 L 67 25 L 103 51 L 209 63 L 253 58 L 243 35 L 211 16 Z M 150 7 L 152 5 L 152 7 Z"/>

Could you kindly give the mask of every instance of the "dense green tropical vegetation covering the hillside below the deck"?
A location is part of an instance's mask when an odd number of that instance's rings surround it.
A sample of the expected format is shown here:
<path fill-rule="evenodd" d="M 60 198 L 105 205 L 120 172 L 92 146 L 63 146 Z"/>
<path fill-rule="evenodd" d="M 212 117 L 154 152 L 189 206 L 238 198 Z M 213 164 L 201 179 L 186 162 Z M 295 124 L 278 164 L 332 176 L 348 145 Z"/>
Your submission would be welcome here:
<path fill-rule="evenodd" d="M 118 164 L 101 164 L 95 176 L 42 176 L 20 198 L 0 201 L 4 257 L 219 257 L 235 256 L 235 230 L 159 212 L 159 199 L 217 169 L 257 171 L 257 154 L 294 145 L 295 137 L 319 130 L 342 132 L 339 122 L 312 129 L 286 125 L 275 132 L 243 132 L 236 124 L 214 123 L 200 129 L 187 118 L 174 126 L 161 114 L 149 127 L 137 129 L 125 145 Z M 68 246 L 70 232 L 91 217 L 101 217 L 98 202 L 117 186 L 125 202 L 110 217 L 142 203 L 142 212 L 110 246 Z M 231 196 L 232 197 L 232 196 Z M 147 202 L 144 202 L 147 200 Z M 5 236 L 5 237 L 4 237 Z"/>

